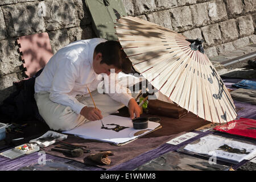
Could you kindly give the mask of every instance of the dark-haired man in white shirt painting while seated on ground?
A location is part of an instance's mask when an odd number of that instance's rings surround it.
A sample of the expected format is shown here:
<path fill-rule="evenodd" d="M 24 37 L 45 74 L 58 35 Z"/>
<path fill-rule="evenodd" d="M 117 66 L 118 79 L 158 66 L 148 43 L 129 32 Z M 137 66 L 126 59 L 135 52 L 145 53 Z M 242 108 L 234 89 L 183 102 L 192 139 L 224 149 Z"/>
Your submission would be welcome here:
<path fill-rule="evenodd" d="M 102 119 L 124 105 L 129 108 L 131 119 L 134 115 L 139 117 L 141 109 L 137 102 L 116 79 L 117 73 L 130 69 L 131 62 L 119 42 L 100 38 L 73 42 L 57 51 L 36 77 L 35 100 L 39 113 L 52 130 L 61 131 Z M 114 79 L 110 75 L 112 70 Z M 109 87 L 114 84 L 122 93 L 100 94 L 101 73 L 108 75 Z"/>

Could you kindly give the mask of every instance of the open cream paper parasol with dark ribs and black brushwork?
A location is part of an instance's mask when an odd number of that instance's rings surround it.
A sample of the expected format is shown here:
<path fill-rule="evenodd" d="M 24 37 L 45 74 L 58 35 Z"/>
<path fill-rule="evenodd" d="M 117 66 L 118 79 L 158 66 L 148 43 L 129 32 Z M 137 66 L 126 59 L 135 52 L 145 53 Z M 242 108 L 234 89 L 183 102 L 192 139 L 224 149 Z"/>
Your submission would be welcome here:
<path fill-rule="evenodd" d="M 232 97 L 200 40 L 133 16 L 123 16 L 115 26 L 133 67 L 168 99 L 214 123 L 237 118 Z"/>

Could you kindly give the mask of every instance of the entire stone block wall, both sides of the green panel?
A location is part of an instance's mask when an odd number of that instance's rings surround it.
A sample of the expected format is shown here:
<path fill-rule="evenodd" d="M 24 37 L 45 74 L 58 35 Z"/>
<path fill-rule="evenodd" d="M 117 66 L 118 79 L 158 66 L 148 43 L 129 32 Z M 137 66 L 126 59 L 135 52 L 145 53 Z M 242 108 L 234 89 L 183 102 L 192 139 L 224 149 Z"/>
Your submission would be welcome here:
<path fill-rule="evenodd" d="M 208 57 L 256 43 L 255 0 L 122 0 L 128 15 L 204 39 Z M 24 78 L 15 39 L 48 32 L 55 53 L 96 37 L 84 0 L 0 1 L 0 102 Z"/>

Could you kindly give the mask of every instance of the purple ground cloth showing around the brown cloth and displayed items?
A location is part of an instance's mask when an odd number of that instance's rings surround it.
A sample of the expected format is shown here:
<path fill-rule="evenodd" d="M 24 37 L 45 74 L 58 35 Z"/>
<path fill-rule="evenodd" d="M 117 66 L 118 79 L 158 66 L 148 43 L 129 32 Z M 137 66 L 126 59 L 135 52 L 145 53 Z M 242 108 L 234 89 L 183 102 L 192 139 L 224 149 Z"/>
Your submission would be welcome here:
<path fill-rule="evenodd" d="M 224 81 L 227 88 L 236 89 L 236 88 L 233 88 L 231 85 L 241 81 L 242 78 L 241 79 L 240 78 L 222 78 L 222 80 Z M 255 79 L 250 79 L 250 80 L 255 80 Z M 236 107 L 238 109 L 241 109 L 241 110 L 238 110 L 238 112 L 237 112 L 238 118 L 243 117 L 243 118 L 256 119 L 256 112 L 255 112 L 256 105 L 247 104 L 246 102 L 239 102 L 239 101 L 234 101 L 234 104 L 236 105 Z M 141 166 L 142 164 L 149 162 L 152 159 L 158 158 L 160 155 L 163 155 L 166 152 L 175 151 L 178 148 L 185 146 L 185 144 L 191 143 L 196 139 L 199 139 L 201 137 L 204 137 L 205 135 L 213 133 L 212 131 L 206 131 L 204 133 L 201 133 L 200 131 L 195 131 L 195 132 L 199 133 L 199 135 L 197 135 L 196 137 L 194 137 L 192 139 L 185 141 L 184 143 L 181 143 L 177 146 L 173 146 L 173 145 L 167 144 L 167 143 L 162 144 L 162 146 L 159 146 L 158 148 L 155 148 L 154 150 L 145 152 L 144 154 L 141 154 L 134 159 L 131 159 L 125 163 L 119 164 L 118 166 L 115 166 L 108 170 L 111 170 L 111 171 L 113 171 L 113 170 L 116 170 L 116 171 L 117 170 L 124 170 L 124 171 L 133 170 L 133 169 Z M 5 171 L 17 170 L 21 167 L 28 166 L 33 163 L 37 163 L 39 157 L 40 157 L 40 155 L 38 155 L 38 152 L 35 152 L 34 154 L 30 154 L 30 155 L 25 155 L 25 156 L 22 156 L 20 158 L 13 159 L 13 160 L 7 159 L 3 156 L 0 156 L 0 170 L 5 170 Z M 57 156 L 46 154 L 46 160 L 48 160 L 48 159 L 53 159 L 53 160 L 57 160 L 60 162 L 67 162 L 68 164 L 72 164 L 74 166 L 84 168 L 87 170 L 93 170 L 93 171 L 94 170 L 104 170 L 104 169 L 97 168 L 97 167 L 86 166 L 85 164 L 76 162 L 74 160 L 59 158 Z M 247 160 L 243 160 L 242 162 L 236 164 L 236 166 L 233 166 L 233 169 L 239 168 L 246 162 L 247 162 Z"/>

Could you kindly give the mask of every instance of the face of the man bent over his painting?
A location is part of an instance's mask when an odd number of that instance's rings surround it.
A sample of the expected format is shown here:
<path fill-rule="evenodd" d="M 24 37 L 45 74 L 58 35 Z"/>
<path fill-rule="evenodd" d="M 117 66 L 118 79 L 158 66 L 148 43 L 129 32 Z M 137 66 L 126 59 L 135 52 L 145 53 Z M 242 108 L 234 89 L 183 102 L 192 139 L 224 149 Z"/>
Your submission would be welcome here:
<path fill-rule="evenodd" d="M 117 69 L 114 65 L 108 65 L 106 63 L 100 63 L 102 60 L 102 54 L 97 53 L 93 56 L 93 69 L 97 74 L 106 73 L 110 75 L 110 69 L 114 69 L 115 73 L 121 72 L 121 69 Z"/>

